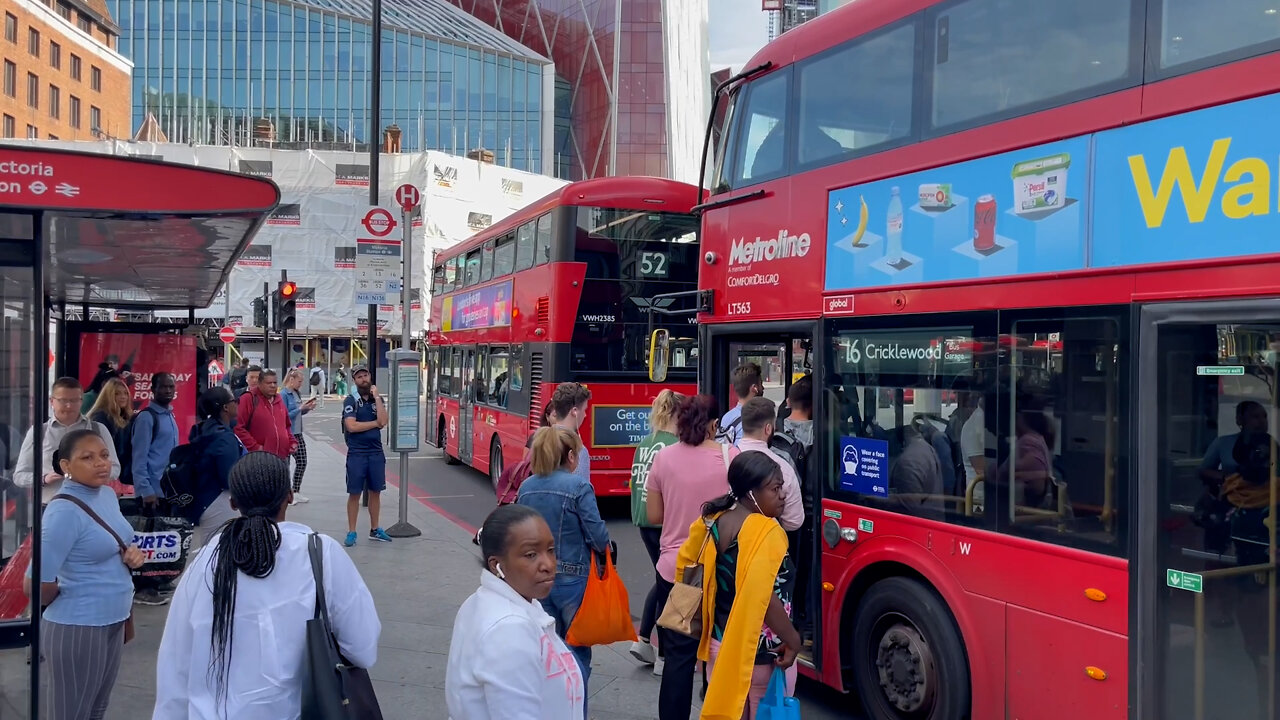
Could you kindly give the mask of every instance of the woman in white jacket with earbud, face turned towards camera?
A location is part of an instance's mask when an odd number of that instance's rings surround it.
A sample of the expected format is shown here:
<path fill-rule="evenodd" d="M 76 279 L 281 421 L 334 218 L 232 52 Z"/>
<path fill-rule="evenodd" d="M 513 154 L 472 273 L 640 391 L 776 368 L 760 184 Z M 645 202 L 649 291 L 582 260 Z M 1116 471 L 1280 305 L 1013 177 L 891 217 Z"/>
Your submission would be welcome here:
<path fill-rule="evenodd" d="M 480 528 L 480 589 L 453 621 L 444 694 L 453 720 L 582 720 L 577 660 L 539 600 L 556 583 L 556 548 L 541 514 L 494 510 Z"/>

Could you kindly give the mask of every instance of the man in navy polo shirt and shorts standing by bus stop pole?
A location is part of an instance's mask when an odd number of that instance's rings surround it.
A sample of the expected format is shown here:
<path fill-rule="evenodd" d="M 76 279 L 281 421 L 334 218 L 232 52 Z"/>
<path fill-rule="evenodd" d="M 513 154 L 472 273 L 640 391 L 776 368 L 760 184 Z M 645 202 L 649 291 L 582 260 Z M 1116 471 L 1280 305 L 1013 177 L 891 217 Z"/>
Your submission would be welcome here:
<path fill-rule="evenodd" d="M 369 491 L 369 539 L 392 542 L 378 524 L 381 492 L 387 489 L 387 455 L 383 452 L 387 405 L 369 377 L 369 368 L 352 368 L 351 379 L 356 395 L 342 401 L 342 429 L 347 438 L 347 547 L 356 544 L 360 495 L 365 491 Z"/>

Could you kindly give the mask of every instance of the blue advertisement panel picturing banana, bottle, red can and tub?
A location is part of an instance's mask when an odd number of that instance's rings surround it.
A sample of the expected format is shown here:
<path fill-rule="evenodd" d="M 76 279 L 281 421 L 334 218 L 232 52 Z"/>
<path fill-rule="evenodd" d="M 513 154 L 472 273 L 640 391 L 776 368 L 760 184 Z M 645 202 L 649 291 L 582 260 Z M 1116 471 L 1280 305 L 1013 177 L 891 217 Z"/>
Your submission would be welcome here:
<path fill-rule="evenodd" d="M 1084 266 L 1089 141 L 832 191 L 827 290 Z"/>

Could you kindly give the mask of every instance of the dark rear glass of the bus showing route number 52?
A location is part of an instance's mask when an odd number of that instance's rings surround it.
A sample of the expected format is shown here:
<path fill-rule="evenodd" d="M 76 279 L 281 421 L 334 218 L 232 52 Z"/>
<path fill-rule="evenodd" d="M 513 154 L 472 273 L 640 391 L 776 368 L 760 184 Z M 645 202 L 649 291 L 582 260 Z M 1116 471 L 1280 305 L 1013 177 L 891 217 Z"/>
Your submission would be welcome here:
<path fill-rule="evenodd" d="M 573 259 L 586 265 L 573 324 L 575 373 L 648 373 L 649 318 L 658 295 L 698 288 L 698 218 L 680 213 L 579 208 Z M 664 309 L 691 299 L 659 300 Z M 695 338 L 692 313 L 654 315 L 672 338 Z M 691 373 L 672 363 L 672 374 Z"/>

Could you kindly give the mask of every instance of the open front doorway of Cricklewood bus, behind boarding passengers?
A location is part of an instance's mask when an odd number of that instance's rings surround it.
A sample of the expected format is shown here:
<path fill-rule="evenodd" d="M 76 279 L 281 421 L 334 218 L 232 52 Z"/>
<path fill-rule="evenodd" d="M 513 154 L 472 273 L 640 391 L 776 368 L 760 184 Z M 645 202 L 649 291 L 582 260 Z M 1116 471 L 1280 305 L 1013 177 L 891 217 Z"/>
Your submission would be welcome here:
<path fill-rule="evenodd" d="M 774 401 L 782 414 L 782 407 L 787 391 L 794 379 L 812 372 L 810 357 L 813 347 L 814 323 L 756 323 L 750 325 L 704 325 L 701 347 L 709 355 L 703 357 L 701 377 L 699 378 L 700 392 L 714 396 L 726 410 L 737 404 L 733 392 L 733 369 L 744 363 L 755 363 L 760 366 L 762 391 L 764 397 Z M 813 356 L 815 360 L 817 357 Z M 709 363 L 707 361 L 709 360 Z M 781 429 L 781 423 L 778 425 Z M 815 454 L 810 448 L 810 457 Z M 810 471 L 815 473 L 815 462 L 810 462 Z M 815 477 L 801 478 L 801 483 L 809 487 L 817 480 Z M 809 667 L 817 669 L 820 657 L 819 643 L 819 592 L 818 585 L 822 575 L 818 571 L 817 528 L 818 528 L 818 498 L 817 493 L 805 492 L 808 506 L 805 507 L 805 525 L 801 532 L 788 533 L 791 541 L 791 561 L 796 566 L 796 583 L 792 594 L 792 607 L 796 628 L 806 643 L 812 639 L 813 646 L 806 647 L 800 661 Z"/>

